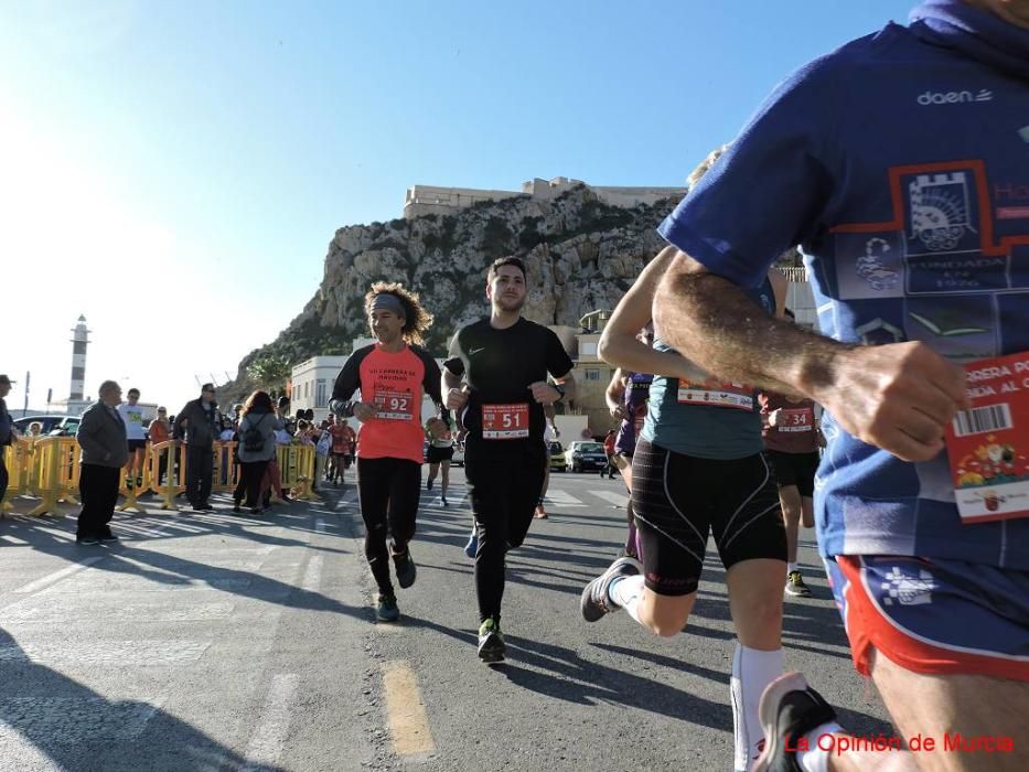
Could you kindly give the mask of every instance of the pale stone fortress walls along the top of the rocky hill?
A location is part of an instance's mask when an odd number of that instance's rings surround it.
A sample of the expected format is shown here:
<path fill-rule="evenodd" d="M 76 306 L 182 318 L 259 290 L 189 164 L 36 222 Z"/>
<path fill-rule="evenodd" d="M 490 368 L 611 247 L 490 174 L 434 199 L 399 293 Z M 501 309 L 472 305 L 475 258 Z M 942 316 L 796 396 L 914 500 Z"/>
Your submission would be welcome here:
<path fill-rule="evenodd" d="M 537 201 L 550 201 L 577 185 L 581 180 L 556 176 L 553 180 L 529 180 L 522 183 L 521 191 L 487 191 L 475 187 L 438 187 L 436 185 L 411 185 L 404 202 L 404 218 L 411 219 L 425 214 L 454 214 L 474 204 L 529 196 Z M 632 208 L 640 204 L 652 205 L 665 199 L 686 194 L 685 187 L 594 187 L 587 185 L 597 197 L 611 206 Z"/>

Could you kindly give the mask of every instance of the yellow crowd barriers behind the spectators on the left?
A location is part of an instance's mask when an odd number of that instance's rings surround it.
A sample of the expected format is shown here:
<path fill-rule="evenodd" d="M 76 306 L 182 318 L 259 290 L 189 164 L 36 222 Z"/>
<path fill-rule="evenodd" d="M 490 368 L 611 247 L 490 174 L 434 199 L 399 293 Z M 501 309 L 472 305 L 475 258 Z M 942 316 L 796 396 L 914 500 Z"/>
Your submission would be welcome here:
<path fill-rule="evenodd" d="M 2 449 L 9 482 L 7 495 L 0 502 L 0 516 L 13 511 L 11 501 L 21 496 L 39 498 L 30 515 L 54 512 L 61 502 L 78 504 L 78 479 L 82 449 L 74 437 L 19 438 Z M 211 490 L 234 491 L 239 482 L 235 442 L 215 442 Z M 158 496 L 162 510 L 178 511 L 175 498 L 185 492 L 185 470 L 189 446 L 180 440 L 147 444 L 141 468 L 142 484 L 129 481 L 121 470 L 120 493 L 125 501 L 119 512 L 142 512 L 137 498 L 148 492 Z M 276 446 L 282 490 L 291 490 L 299 501 L 321 501 L 313 492 L 314 446 Z M 278 491 L 272 501 L 281 502 Z"/>

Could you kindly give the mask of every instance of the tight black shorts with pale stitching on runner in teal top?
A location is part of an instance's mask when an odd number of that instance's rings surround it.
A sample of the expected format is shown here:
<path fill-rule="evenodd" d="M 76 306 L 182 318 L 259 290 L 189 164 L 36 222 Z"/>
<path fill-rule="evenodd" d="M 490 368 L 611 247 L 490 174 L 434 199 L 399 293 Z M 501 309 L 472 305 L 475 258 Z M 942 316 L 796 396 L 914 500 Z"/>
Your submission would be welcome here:
<path fill-rule="evenodd" d="M 696 591 L 708 534 L 722 565 L 786 559 L 772 471 L 761 454 L 699 459 L 641 439 L 632 459 L 632 507 L 646 586 L 662 596 Z"/>

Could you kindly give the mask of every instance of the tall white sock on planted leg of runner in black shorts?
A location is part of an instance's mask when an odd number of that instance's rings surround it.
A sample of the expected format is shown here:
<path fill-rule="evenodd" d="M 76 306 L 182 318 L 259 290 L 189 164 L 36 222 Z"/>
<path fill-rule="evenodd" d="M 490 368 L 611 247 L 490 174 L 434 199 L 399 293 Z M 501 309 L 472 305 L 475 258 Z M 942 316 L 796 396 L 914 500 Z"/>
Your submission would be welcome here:
<path fill-rule="evenodd" d="M 736 644 L 729 682 L 736 738 L 735 770 L 749 770 L 763 747 L 764 732 L 758 717 L 758 705 L 764 688 L 782 675 L 782 648 L 762 652 Z"/>

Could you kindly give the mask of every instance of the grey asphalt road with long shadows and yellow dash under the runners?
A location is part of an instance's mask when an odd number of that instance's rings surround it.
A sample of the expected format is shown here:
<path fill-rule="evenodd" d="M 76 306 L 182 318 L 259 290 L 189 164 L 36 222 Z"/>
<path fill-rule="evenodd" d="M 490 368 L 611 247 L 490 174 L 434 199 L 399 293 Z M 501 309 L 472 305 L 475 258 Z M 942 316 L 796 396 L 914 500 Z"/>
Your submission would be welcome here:
<path fill-rule="evenodd" d="M 217 496 L 215 513 L 119 514 L 114 547 L 76 546 L 72 507 L 0 521 L 0 770 L 730 769 L 714 549 L 686 633 L 588 624 L 579 593 L 621 546 L 624 490 L 554 475 L 550 518 L 507 560 L 508 661 L 487 667 L 453 476 L 449 507 L 422 495 L 398 624 L 374 621 L 352 486 L 261 517 Z M 787 667 L 850 731 L 892 733 L 810 540 L 801 562 L 814 598 L 786 600 Z"/>

